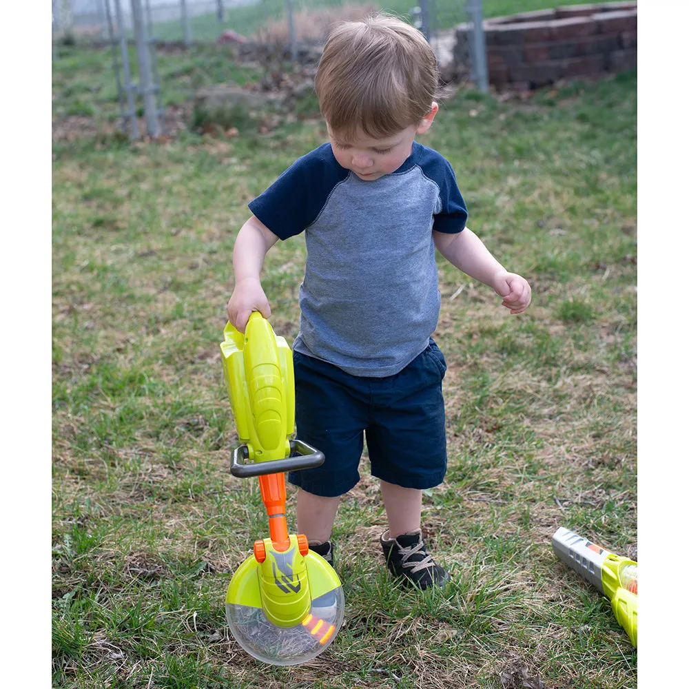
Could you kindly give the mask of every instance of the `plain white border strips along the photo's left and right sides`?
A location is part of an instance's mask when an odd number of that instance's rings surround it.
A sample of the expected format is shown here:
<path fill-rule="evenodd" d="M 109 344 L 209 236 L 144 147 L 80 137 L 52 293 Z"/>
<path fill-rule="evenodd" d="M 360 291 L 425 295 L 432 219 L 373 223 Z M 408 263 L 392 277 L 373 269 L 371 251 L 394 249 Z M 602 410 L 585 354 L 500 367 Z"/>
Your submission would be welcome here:
<path fill-rule="evenodd" d="M 29 24 L 7 4 L 21 31 L 0 43 L 3 683 L 50 686 L 51 17 L 48 2 Z M 686 675 L 689 11 L 638 7 L 639 686 L 654 689 Z"/>

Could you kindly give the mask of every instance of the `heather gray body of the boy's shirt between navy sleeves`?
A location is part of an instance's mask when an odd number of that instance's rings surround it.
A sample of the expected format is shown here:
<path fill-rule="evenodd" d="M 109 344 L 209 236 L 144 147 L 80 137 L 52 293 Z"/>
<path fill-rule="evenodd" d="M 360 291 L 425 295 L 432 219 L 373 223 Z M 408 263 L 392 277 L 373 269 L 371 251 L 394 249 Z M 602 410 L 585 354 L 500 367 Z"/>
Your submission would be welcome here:
<path fill-rule="evenodd" d="M 415 165 L 362 181 L 350 173 L 306 229 L 294 349 L 353 376 L 392 376 L 429 344 L 440 291 L 433 214 L 440 189 Z"/>

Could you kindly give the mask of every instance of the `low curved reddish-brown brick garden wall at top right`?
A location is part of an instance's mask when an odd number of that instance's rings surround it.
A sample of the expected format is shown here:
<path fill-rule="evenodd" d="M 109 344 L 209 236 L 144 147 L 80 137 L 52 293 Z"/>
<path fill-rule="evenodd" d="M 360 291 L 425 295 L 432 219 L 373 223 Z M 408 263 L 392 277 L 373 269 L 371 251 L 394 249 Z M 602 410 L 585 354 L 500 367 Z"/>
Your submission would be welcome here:
<path fill-rule="evenodd" d="M 470 26 L 457 27 L 455 61 Z M 489 82 L 533 89 L 637 67 L 637 3 L 574 5 L 484 20 Z"/>

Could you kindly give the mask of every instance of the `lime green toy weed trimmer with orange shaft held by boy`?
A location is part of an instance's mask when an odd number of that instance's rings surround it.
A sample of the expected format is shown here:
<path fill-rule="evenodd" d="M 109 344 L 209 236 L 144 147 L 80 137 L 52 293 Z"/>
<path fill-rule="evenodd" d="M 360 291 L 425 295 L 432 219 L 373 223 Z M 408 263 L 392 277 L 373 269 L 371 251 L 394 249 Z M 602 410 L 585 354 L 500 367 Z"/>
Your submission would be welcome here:
<path fill-rule="evenodd" d="M 270 536 L 236 570 L 227 588 L 227 622 L 240 646 L 273 665 L 304 663 L 324 651 L 345 617 L 335 570 L 309 551 L 305 535 L 289 534 L 285 471 L 319 466 L 323 454 L 294 432 L 294 368 L 285 338 L 260 313 L 245 334 L 229 323 L 220 344 L 225 382 L 239 434 L 230 471 L 258 476 Z"/>

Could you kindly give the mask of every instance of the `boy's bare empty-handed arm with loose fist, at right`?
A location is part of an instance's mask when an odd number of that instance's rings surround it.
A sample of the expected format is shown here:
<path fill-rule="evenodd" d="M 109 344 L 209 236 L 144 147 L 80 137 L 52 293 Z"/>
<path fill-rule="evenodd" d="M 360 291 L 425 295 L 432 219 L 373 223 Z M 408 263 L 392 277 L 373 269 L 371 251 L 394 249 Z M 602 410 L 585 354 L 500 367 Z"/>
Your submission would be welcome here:
<path fill-rule="evenodd" d="M 493 287 L 510 313 L 522 313 L 531 303 L 531 287 L 522 276 L 509 273 L 484 243 L 465 227 L 458 234 L 433 231 L 435 248 L 463 273 Z"/>

